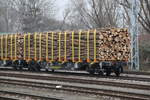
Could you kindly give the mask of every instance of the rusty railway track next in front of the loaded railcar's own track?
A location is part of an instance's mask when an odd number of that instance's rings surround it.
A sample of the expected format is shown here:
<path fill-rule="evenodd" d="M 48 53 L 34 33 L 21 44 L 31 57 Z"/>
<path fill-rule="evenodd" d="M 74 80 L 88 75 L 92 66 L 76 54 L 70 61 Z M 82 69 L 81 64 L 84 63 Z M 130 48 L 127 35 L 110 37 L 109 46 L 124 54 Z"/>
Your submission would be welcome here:
<path fill-rule="evenodd" d="M 127 88 L 136 88 L 136 89 L 145 89 L 150 90 L 150 85 L 142 84 L 131 84 L 124 82 L 114 82 L 114 81 L 104 81 L 104 80 L 90 80 L 83 78 L 73 78 L 65 76 L 40 76 L 40 75 L 27 75 L 27 74 L 17 74 L 17 73 L 0 73 L 0 76 L 8 77 L 18 77 L 18 78 L 28 78 L 28 79 L 40 79 L 40 80 L 51 80 L 51 81 L 62 81 L 62 82 L 71 82 L 71 83 L 83 83 L 83 84 L 96 84 L 96 85 L 108 85 L 108 86 L 118 86 L 118 87 L 127 87 Z M 2 79 L 1 79 L 2 80 Z"/>

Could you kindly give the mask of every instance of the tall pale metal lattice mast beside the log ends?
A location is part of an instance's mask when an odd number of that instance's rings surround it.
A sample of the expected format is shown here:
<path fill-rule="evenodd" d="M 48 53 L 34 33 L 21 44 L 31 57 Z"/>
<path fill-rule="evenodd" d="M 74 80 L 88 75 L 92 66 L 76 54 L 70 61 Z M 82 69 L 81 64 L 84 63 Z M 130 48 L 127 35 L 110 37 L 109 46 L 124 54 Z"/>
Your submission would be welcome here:
<path fill-rule="evenodd" d="M 132 12 L 131 12 L 131 70 L 139 70 L 139 41 L 138 41 L 138 12 L 139 12 L 139 0 L 132 0 Z"/>

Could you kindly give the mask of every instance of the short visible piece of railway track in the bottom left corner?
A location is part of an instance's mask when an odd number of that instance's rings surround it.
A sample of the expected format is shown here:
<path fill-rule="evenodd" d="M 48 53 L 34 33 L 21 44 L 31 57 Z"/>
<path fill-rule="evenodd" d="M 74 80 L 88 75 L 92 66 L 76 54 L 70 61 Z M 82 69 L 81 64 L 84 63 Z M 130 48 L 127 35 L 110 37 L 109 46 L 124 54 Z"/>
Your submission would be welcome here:
<path fill-rule="evenodd" d="M 15 91 L 10 92 L 7 90 L 0 90 L 0 100 L 21 100 L 21 99 L 27 100 L 27 98 L 30 100 L 62 100 L 62 99 L 37 96 L 37 95 L 32 95 L 27 93 L 19 93 Z"/>

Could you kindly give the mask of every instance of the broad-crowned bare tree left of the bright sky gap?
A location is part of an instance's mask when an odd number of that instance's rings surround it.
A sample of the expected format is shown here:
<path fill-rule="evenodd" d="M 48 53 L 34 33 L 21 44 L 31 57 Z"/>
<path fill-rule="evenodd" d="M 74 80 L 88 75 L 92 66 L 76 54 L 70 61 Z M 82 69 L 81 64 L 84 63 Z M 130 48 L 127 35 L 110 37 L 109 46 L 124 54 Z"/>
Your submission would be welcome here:
<path fill-rule="evenodd" d="M 23 32 L 42 31 L 43 19 L 54 13 L 52 0 L 13 0 L 11 4 L 19 15 Z"/>

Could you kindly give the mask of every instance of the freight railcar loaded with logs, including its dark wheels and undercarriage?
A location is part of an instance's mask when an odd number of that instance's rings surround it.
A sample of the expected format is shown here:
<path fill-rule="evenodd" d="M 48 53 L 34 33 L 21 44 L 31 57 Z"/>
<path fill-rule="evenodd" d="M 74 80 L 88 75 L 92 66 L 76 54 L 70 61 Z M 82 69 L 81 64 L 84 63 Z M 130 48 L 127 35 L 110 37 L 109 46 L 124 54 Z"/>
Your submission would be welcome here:
<path fill-rule="evenodd" d="M 119 76 L 129 59 L 130 36 L 124 28 L 0 35 L 1 65 L 16 70 L 85 70 Z"/>

